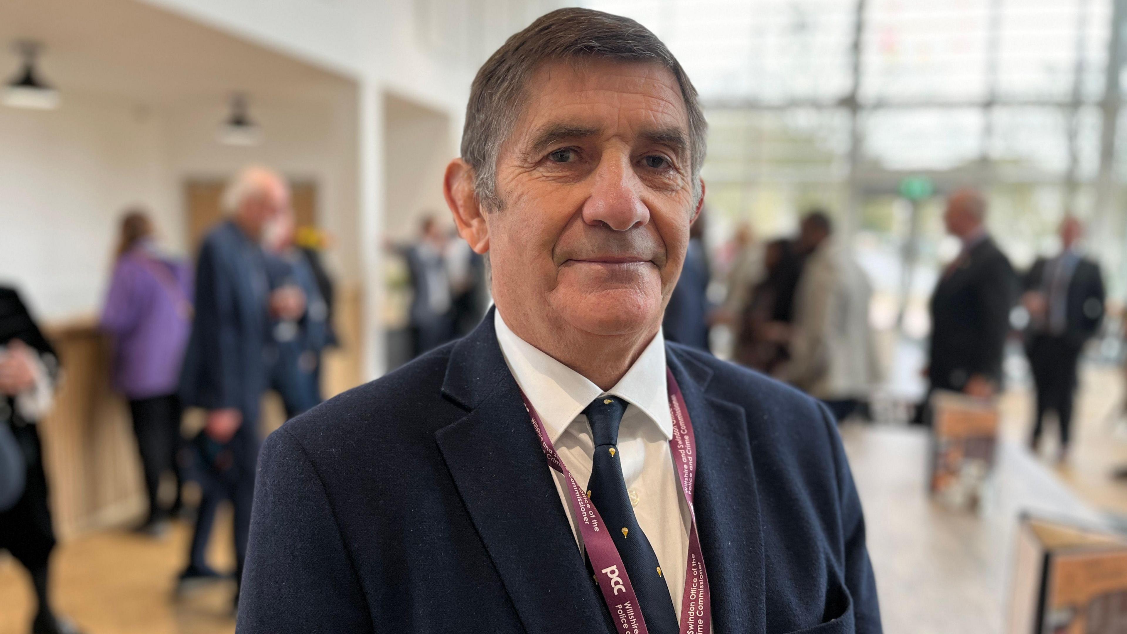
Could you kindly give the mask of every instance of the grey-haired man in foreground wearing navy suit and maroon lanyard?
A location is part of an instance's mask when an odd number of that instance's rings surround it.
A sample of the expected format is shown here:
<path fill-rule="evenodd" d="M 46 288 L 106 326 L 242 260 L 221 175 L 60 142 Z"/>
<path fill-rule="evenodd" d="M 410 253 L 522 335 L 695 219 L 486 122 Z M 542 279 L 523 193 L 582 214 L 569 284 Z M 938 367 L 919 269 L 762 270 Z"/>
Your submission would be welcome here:
<path fill-rule="evenodd" d="M 486 62 L 445 193 L 496 310 L 267 440 L 240 632 L 880 632 L 828 412 L 662 336 L 704 127 L 633 20 Z"/>

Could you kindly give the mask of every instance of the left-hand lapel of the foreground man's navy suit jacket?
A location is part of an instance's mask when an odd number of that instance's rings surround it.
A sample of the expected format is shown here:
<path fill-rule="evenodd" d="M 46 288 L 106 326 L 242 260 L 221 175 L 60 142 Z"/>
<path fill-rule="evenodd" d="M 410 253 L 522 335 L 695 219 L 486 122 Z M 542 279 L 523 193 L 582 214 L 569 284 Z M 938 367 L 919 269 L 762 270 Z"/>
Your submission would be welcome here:
<path fill-rule="evenodd" d="M 455 345 L 443 394 L 470 412 L 436 433 L 440 450 L 525 629 L 610 632 L 491 310 Z"/>

